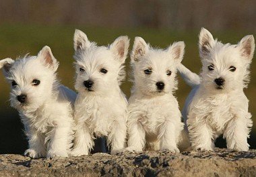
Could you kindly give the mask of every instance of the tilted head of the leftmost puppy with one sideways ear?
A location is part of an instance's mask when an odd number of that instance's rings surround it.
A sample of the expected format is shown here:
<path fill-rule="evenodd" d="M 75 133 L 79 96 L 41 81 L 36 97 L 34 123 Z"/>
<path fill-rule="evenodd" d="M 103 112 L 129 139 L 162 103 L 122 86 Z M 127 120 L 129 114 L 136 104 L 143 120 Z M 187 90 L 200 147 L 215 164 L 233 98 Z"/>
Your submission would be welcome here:
<path fill-rule="evenodd" d="M 52 97 L 58 65 L 48 46 L 42 48 L 38 56 L 0 60 L 0 68 L 3 68 L 5 78 L 11 85 L 11 106 L 30 111 L 43 105 L 46 99 Z"/>

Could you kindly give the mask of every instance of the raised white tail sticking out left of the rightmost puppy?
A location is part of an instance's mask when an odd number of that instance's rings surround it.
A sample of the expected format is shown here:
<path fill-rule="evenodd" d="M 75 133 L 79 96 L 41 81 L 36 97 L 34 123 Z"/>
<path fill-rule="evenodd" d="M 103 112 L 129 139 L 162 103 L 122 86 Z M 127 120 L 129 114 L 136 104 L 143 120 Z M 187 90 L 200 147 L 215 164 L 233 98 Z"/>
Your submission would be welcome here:
<path fill-rule="evenodd" d="M 194 72 L 191 72 L 191 70 L 186 68 L 183 64 L 178 65 L 178 72 L 181 74 L 181 77 L 185 80 L 185 82 L 191 87 L 199 85 L 201 82 L 200 76 Z"/>

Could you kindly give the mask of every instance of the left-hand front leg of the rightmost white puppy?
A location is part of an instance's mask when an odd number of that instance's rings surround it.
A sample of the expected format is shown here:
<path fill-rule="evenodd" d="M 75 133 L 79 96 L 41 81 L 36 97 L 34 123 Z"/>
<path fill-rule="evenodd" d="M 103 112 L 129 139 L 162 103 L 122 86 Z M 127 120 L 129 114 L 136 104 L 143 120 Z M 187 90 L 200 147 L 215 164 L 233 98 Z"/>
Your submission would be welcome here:
<path fill-rule="evenodd" d="M 200 120 L 200 121 L 196 121 Z M 210 125 L 207 125 L 205 119 L 190 117 L 187 119 L 189 129 L 189 138 L 193 150 L 214 151 L 214 137 Z"/>

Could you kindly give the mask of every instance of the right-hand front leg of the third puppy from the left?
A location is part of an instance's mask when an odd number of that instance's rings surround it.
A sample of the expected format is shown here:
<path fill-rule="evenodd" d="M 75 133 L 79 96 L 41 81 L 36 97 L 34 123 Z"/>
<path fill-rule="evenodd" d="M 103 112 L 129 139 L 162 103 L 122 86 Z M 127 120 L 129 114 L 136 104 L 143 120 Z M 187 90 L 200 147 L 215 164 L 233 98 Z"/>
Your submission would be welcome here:
<path fill-rule="evenodd" d="M 169 120 L 164 121 L 160 126 L 160 131 L 158 134 L 158 139 L 160 140 L 160 150 L 169 150 L 170 152 L 179 152 L 177 148 L 177 134 L 176 129 L 179 128 L 177 125 L 175 126 Z"/>

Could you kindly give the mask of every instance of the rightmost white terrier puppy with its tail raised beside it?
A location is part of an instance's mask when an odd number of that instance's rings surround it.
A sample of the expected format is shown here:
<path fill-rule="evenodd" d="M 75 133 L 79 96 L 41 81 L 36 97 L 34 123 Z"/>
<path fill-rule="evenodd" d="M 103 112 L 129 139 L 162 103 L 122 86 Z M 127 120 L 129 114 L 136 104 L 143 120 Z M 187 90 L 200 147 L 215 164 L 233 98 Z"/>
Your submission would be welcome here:
<path fill-rule="evenodd" d="M 192 87 L 183 117 L 194 150 L 214 150 L 214 140 L 221 134 L 228 149 L 249 150 L 247 138 L 253 124 L 243 89 L 249 82 L 254 50 L 252 35 L 235 45 L 222 44 L 207 29 L 201 29 L 200 76 L 179 66 L 179 72 Z"/>

